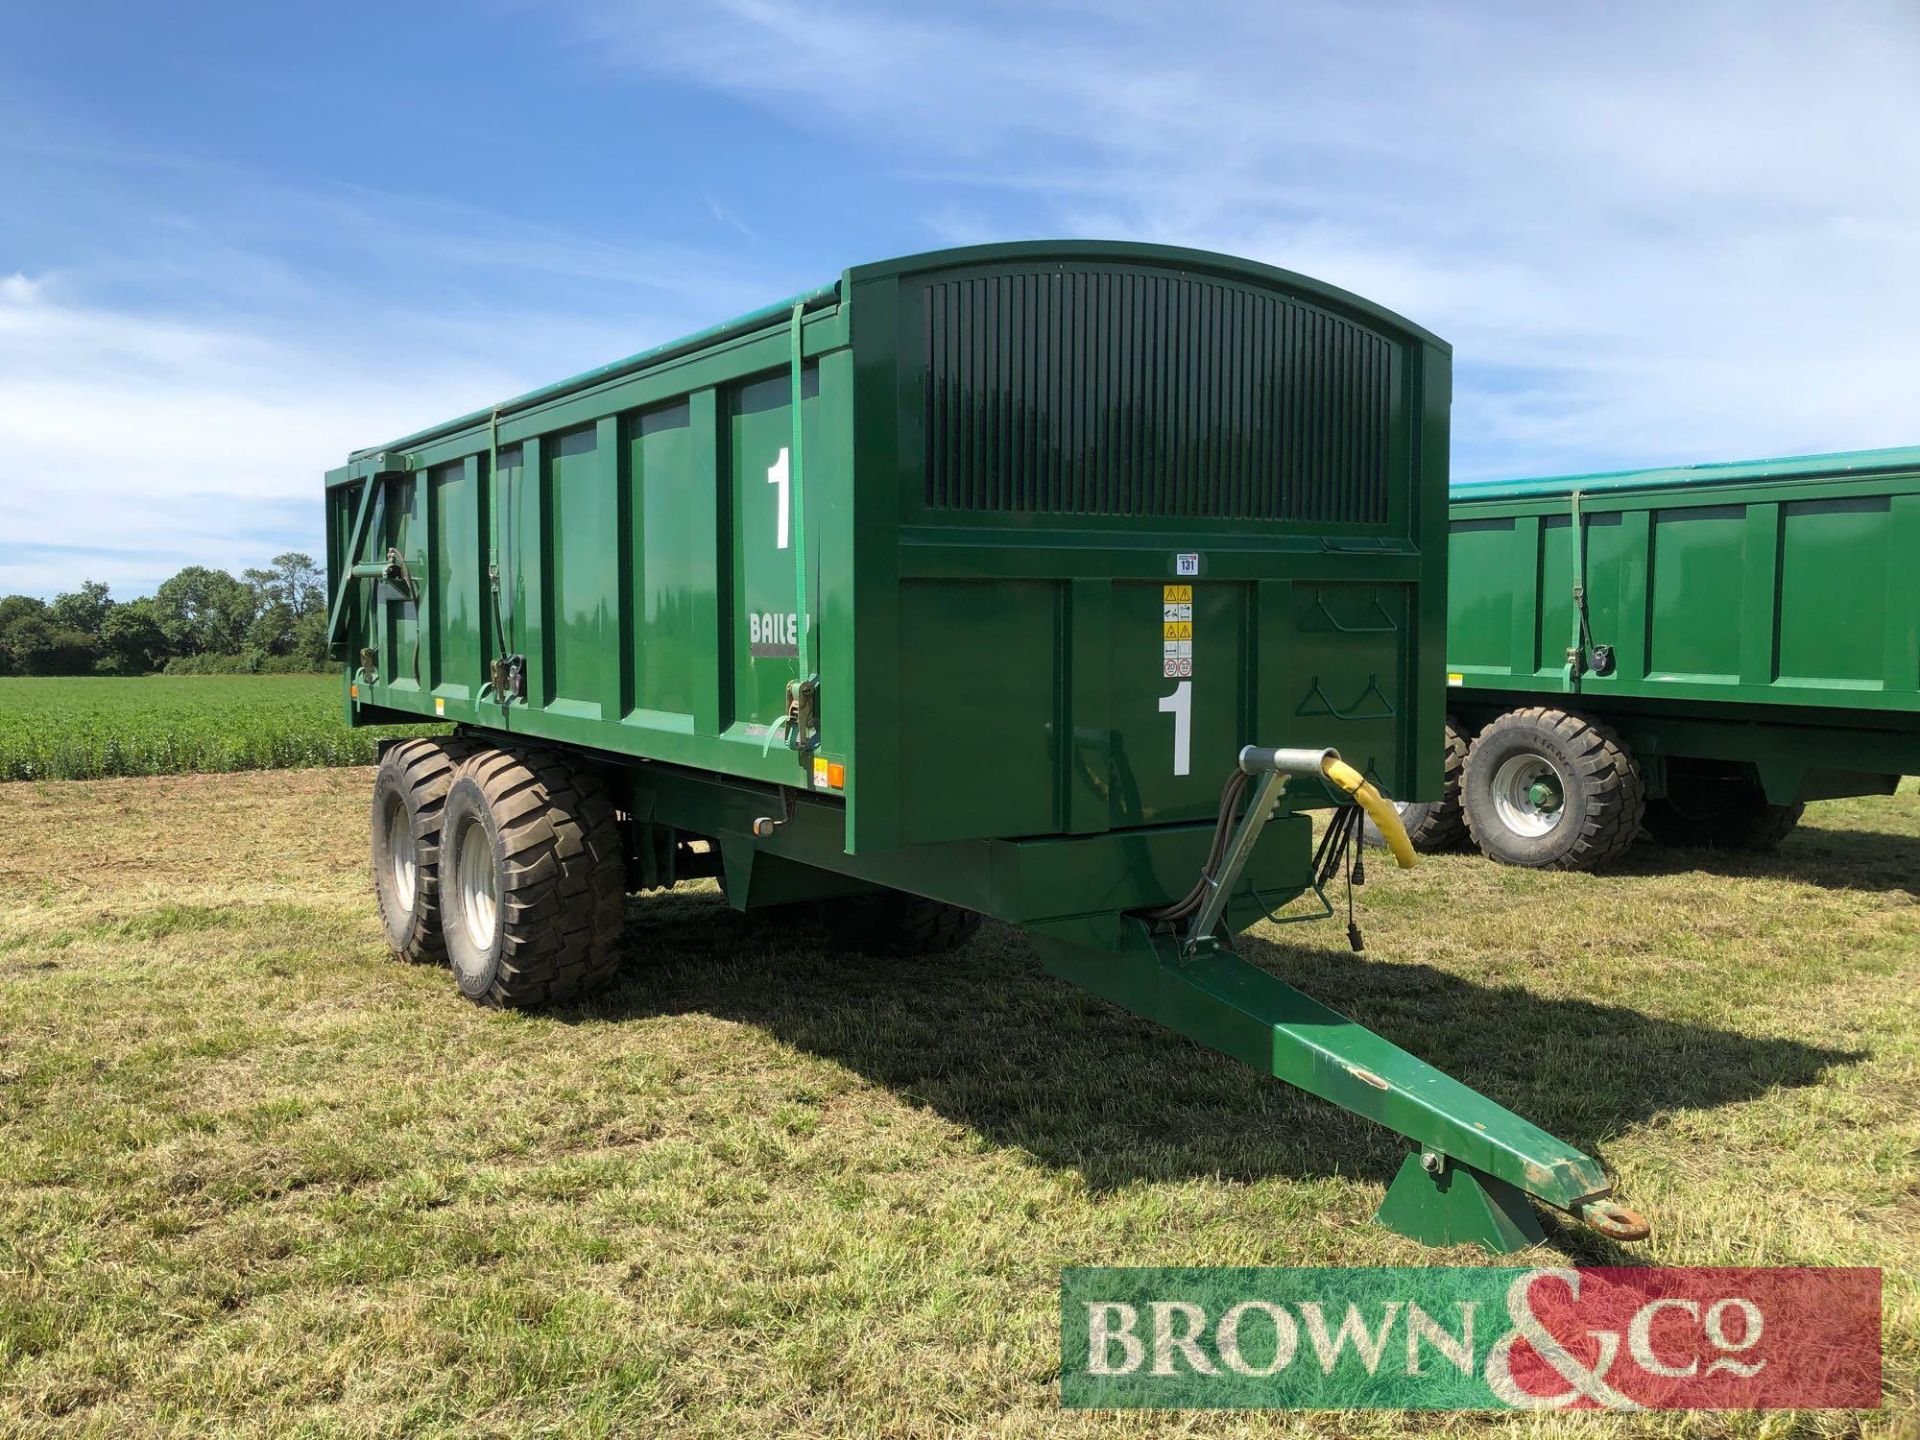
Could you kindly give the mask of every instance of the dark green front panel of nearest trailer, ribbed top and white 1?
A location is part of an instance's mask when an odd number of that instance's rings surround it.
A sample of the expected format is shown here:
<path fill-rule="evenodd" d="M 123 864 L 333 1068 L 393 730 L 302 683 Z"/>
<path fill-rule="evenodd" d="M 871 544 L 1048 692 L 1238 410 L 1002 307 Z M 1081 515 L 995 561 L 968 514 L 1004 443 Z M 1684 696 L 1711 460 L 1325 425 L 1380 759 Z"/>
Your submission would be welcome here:
<path fill-rule="evenodd" d="M 937 774 L 962 716 L 970 755 L 958 793 L 904 799 L 902 839 L 1204 820 L 1246 743 L 1413 789 L 1444 349 L 1271 275 L 902 280 L 900 772 Z"/>

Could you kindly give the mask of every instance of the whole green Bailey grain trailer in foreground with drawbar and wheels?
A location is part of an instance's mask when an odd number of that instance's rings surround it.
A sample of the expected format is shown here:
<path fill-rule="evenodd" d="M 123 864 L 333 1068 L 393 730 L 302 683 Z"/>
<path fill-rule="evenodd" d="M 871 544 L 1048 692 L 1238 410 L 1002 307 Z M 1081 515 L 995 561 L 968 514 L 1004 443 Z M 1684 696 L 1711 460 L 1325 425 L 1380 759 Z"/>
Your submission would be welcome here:
<path fill-rule="evenodd" d="M 374 785 L 394 948 L 538 1004 L 684 877 L 897 952 L 989 914 L 1405 1135 L 1396 1229 L 1511 1248 L 1532 1194 L 1642 1235 L 1592 1158 L 1233 948 L 1332 874 L 1308 810 L 1398 831 L 1367 781 L 1440 785 L 1448 386 L 1440 340 L 1298 275 L 1016 244 L 355 453 L 348 714 L 455 726 Z"/>

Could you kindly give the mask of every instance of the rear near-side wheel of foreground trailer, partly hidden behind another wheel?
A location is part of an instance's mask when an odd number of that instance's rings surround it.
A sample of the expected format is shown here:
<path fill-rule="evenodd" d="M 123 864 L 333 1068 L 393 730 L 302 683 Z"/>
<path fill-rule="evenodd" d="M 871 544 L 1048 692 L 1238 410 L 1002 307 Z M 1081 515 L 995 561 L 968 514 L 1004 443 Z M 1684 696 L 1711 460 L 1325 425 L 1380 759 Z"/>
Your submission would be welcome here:
<path fill-rule="evenodd" d="M 403 739 L 372 780 L 372 893 L 394 954 L 415 964 L 447 958 L 440 925 L 440 820 L 453 772 L 470 745 Z"/>

